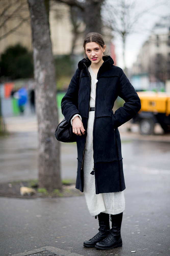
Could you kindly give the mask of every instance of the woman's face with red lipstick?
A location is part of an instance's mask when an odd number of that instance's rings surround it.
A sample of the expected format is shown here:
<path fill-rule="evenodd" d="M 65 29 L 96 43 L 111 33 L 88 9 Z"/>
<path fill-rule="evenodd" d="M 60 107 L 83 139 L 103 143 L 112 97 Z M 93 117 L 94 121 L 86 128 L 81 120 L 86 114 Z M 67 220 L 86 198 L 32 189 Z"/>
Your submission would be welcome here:
<path fill-rule="evenodd" d="M 106 50 L 106 45 L 102 48 L 96 42 L 89 42 L 85 45 L 87 57 L 93 64 L 102 64 L 103 52 Z"/>

